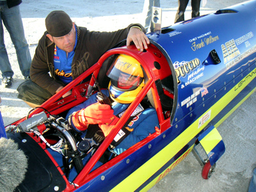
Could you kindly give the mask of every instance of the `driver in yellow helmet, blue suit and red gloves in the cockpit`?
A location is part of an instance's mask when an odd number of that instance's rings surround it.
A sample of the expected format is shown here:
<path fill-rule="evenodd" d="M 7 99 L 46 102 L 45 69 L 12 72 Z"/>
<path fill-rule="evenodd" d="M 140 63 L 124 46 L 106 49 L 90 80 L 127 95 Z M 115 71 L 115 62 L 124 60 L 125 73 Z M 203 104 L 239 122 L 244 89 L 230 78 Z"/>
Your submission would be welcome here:
<path fill-rule="evenodd" d="M 140 90 L 145 85 L 143 68 L 140 63 L 124 54 L 120 54 L 107 72 L 111 79 L 108 90 L 102 90 L 106 96 L 110 96 L 111 106 L 97 102 L 97 94 L 92 95 L 83 104 L 76 106 L 68 112 L 67 116 L 70 124 L 77 131 L 96 131 L 95 126 L 88 129 L 89 125 L 97 124 L 100 129 L 95 133 L 106 137 L 111 131 L 111 125 L 120 118 L 129 104 L 137 97 Z M 114 119 L 114 120 L 113 120 Z M 113 152 L 120 154 L 127 148 L 146 138 L 155 132 L 155 127 L 159 127 L 156 109 L 144 109 L 139 105 L 132 113 L 131 118 L 122 129 L 125 138 L 122 142 L 117 141 Z M 101 134 L 100 134 L 101 132 Z"/>

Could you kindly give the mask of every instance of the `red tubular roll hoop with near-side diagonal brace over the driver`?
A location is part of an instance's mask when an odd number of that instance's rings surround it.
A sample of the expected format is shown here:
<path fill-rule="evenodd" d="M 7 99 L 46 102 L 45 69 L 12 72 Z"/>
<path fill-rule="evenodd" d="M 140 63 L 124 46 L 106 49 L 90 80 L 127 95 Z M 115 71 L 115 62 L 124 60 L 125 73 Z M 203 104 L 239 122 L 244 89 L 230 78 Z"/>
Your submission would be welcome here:
<path fill-rule="evenodd" d="M 145 97 L 145 95 L 147 95 L 147 92 L 150 90 L 150 88 L 152 88 L 152 93 L 153 93 L 154 100 L 155 101 L 159 100 L 159 95 L 157 93 L 156 84 L 154 84 L 154 75 L 152 74 L 152 71 L 150 70 L 150 68 L 147 66 L 147 63 L 144 60 L 141 59 L 140 53 L 141 52 L 139 52 L 138 50 L 132 51 L 131 49 L 116 48 L 116 49 L 112 49 L 112 50 L 106 52 L 106 54 L 104 54 L 100 58 L 100 60 L 98 61 L 98 64 L 101 66 L 102 63 L 109 56 L 111 56 L 113 54 L 127 54 L 129 56 L 132 56 L 137 61 L 139 61 L 139 63 L 141 63 L 141 65 L 145 69 L 145 72 L 146 72 L 146 74 L 148 76 L 148 81 L 145 84 L 145 86 L 143 87 L 143 89 L 141 90 L 141 92 L 139 93 L 138 97 L 136 97 L 136 99 L 132 102 L 131 106 L 129 106 L 129 110 L 125 111 L 124 115 L 117 122 L 115 127 L 109 133 L 108 137 L 106 137 L 106 139 L 103 141 L 103 143 L 97 149 L 95 154 L 93 154 L 91 159 L 84 166 L 83 170 L 79 173 L 79 175 L 74 180 L 74 183 L 79 185 L 79 186 L 83 185 L 84 182 L 92 179 L 92 177 L 97 176 L 97 175 L 94 175 L 94 174 L 89 175 L 89 173 L 92 170 L 93 166 L 95 166 L 97 161 L 99 161 L 100 157 L 106 151 L 106 149 L 109 147 L 110 143 L 113 141 L 113 139 L 115 138 L 116 134 L 118 134 L 120 129 L 124 126 L 125 122 L 127 122 L 127 120 L 131 116 L 131 114 L 134 111 L 134 109 L 136 109 L 138 104 L 140 104 L 141 100 Z M 95 74 L 98 74 L 98 73 L 99 73 L 99 71 L 96 72 Z M 155 104 L 156 104 L 157 116 L 159 118 L 159 124 L 161 124 L 161 122 L 163 122 L 163 120 L 164 120 L 164 116 L 163 116 L 163 113 L 162 113 L 162 107 L 161 107 L 161 104 L 159 102 L 155 102 Z M 118 127 L 120 127 L 120 128 L 118 129 Z M 90 177 L 90 176 L 92 176 L 92 177 Z"/>

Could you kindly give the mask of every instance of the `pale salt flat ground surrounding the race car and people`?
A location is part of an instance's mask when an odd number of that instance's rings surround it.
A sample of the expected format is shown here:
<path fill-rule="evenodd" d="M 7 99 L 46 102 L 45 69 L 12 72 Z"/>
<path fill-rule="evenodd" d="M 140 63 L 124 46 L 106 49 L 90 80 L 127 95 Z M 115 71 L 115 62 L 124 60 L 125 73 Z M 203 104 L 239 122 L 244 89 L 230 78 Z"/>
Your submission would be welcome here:
<path fill-rule="evenodd" d="M 232 6 L 244 1 L 208 0 L 200 8 L 201 15 L 215 12 L 220 8 Z M 78 26 L 85 26 L 91 31 L 114 31 L 125 28 L 131 23 L 144 24 L 143 0 L 23 0 L 20 12 L 24 24 L 26 39 L 31 57 L 39 38 L 45 31 L 44 19 L 52 10 L 64 10 Z M 173 24 L 178 3 L 176 0 L 161 1 L 163 10 L 163 26 Z M 191 17 L 190 3 L 185 13 L 186 19 Z M 4 125 L 26 116 L 29 108 L 22 100 L 17 99 L 17 87 L 24 81 L 17 63 L 15 49 L 6 29 L 4 40 L 13 71 L 13 86 L 10 89 L 0 87 L 2 102 L 0 110 Z M 247 191 L 252 170 L 256 166 L 256 93 L 246 100 L 223 124 L 218 127 L 226 152 L 218 161 L 216 172 L 211 179 L 201 177 L 201 167 L 193 154 L 182 161 L 164 179 L 150 191 Z M 139 179 L 139 178 L 138 178 Z"/>

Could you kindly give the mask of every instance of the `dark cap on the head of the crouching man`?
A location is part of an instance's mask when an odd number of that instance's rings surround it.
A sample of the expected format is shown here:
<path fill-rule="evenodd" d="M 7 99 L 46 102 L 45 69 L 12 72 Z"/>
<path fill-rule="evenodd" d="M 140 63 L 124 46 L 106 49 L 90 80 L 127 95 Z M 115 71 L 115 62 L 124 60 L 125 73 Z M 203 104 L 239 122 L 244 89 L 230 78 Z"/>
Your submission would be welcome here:
<path fill-rule="evenodd" d="M 67 13 L 55 10 L 47 15 L 45 26 L 51 36 L 59 37 L 65 36 L 71 31 L 73 22 Z"/>

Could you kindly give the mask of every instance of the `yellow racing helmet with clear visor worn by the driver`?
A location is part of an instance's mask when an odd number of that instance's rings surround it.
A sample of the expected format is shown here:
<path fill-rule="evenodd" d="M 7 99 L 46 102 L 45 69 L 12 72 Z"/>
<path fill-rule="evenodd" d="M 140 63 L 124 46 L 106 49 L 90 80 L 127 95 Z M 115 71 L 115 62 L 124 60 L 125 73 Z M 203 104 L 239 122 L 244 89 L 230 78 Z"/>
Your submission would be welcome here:
<path fill-rule="evenodd" d="M 140 63 L 125 54 L 120 54 L 107 72 L 109 95 L 122 104 L 131 103 L 145 85 Z"/>

